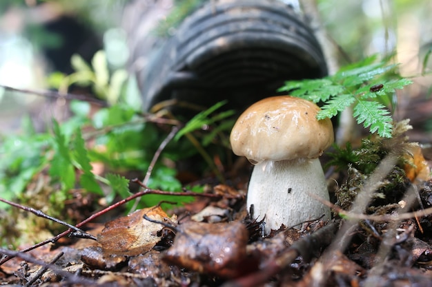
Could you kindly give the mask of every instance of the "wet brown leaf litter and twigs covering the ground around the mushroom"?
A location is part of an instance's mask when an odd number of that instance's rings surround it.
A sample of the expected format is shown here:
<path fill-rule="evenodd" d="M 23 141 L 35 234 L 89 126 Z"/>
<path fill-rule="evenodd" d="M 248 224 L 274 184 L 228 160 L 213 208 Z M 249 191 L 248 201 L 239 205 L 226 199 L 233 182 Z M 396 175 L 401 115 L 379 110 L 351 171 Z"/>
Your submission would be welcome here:
<path fill-rule="evenodd" d="M 333 188 L 343 209 L 333 206 L 330 222 L 282 226 L 263 236 L 262 222 L 248 217 L 244 190 L 221 184 L 170 215 L 153 206 L 94 224 L 87 232 L 96 242 L 80 239 L 29 253 L 2 248 L 14 258 L 3 257 L 1 281 L 26 286 L 430 286 L 430 164 L 418 147 L 392 140 L 396 143 L 367 142 L 370 151 L 380 151 L 379 160 L 360 149 L 361 164 L 351 165 L 348 175 L 331 176 L 344 184 Z M 391 161 L 385 167 L 388 173 L 380 174 L 380 168 L 365 172 L 371 168 L 367 164 L 385 162 L 393 153 L 404 156 L 395 160 L 401 164 Z M 353 202 L 370 184 L 365 212 L 356 213 L 359 205 Z"/>

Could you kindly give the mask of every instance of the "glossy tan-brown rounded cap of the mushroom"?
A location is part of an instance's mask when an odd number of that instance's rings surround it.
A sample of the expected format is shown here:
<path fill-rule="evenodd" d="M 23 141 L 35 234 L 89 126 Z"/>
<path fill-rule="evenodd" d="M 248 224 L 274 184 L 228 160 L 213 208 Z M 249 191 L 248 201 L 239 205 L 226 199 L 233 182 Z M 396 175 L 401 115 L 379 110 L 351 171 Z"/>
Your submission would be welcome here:
<path fill-rule="evenodd" d="M 230 135 L 237 156 L 263 160 L 317 158 L 334 140 L 331 120 L 317 120 L 320 107 L 302 98 L 274 96 L 248 107 Z"/>

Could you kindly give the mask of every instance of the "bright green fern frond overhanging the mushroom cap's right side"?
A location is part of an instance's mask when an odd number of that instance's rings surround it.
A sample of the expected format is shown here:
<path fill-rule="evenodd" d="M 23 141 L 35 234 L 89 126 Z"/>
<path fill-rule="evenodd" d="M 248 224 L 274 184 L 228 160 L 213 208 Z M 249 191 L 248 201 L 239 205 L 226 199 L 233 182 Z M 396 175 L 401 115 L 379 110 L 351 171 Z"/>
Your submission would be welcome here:
<path fill-rule="evenodd" d="M 393 94 L 395 89 L 411 84 L 397 75 L 396 67 L 387 61 L 376 63 L 376 56 L 372 56 L 342 68 L 333 76 L 288 81 L 279 92 L 322 103 L 318 120 L 333 118 L 353 105 L 353 116 L 359 125 L 369 128 L 371 133 L 391 138 Z"/>

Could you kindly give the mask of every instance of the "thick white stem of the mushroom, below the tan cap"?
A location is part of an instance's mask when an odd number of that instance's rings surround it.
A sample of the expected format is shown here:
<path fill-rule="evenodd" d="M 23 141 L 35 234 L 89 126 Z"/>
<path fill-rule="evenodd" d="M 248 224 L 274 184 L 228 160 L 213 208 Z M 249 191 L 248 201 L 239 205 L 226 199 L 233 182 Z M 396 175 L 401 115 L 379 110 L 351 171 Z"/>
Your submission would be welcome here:
<path fill-rule="evenodd" d="M 265 216 L 266 233 L 307 220 L 330 219 L 330 208 L 308 193 L 328 200 L 324 172 L 318 158 L 264 160 L 255 165 L 248 187 L 248 210 L 253 218 Z"/>

